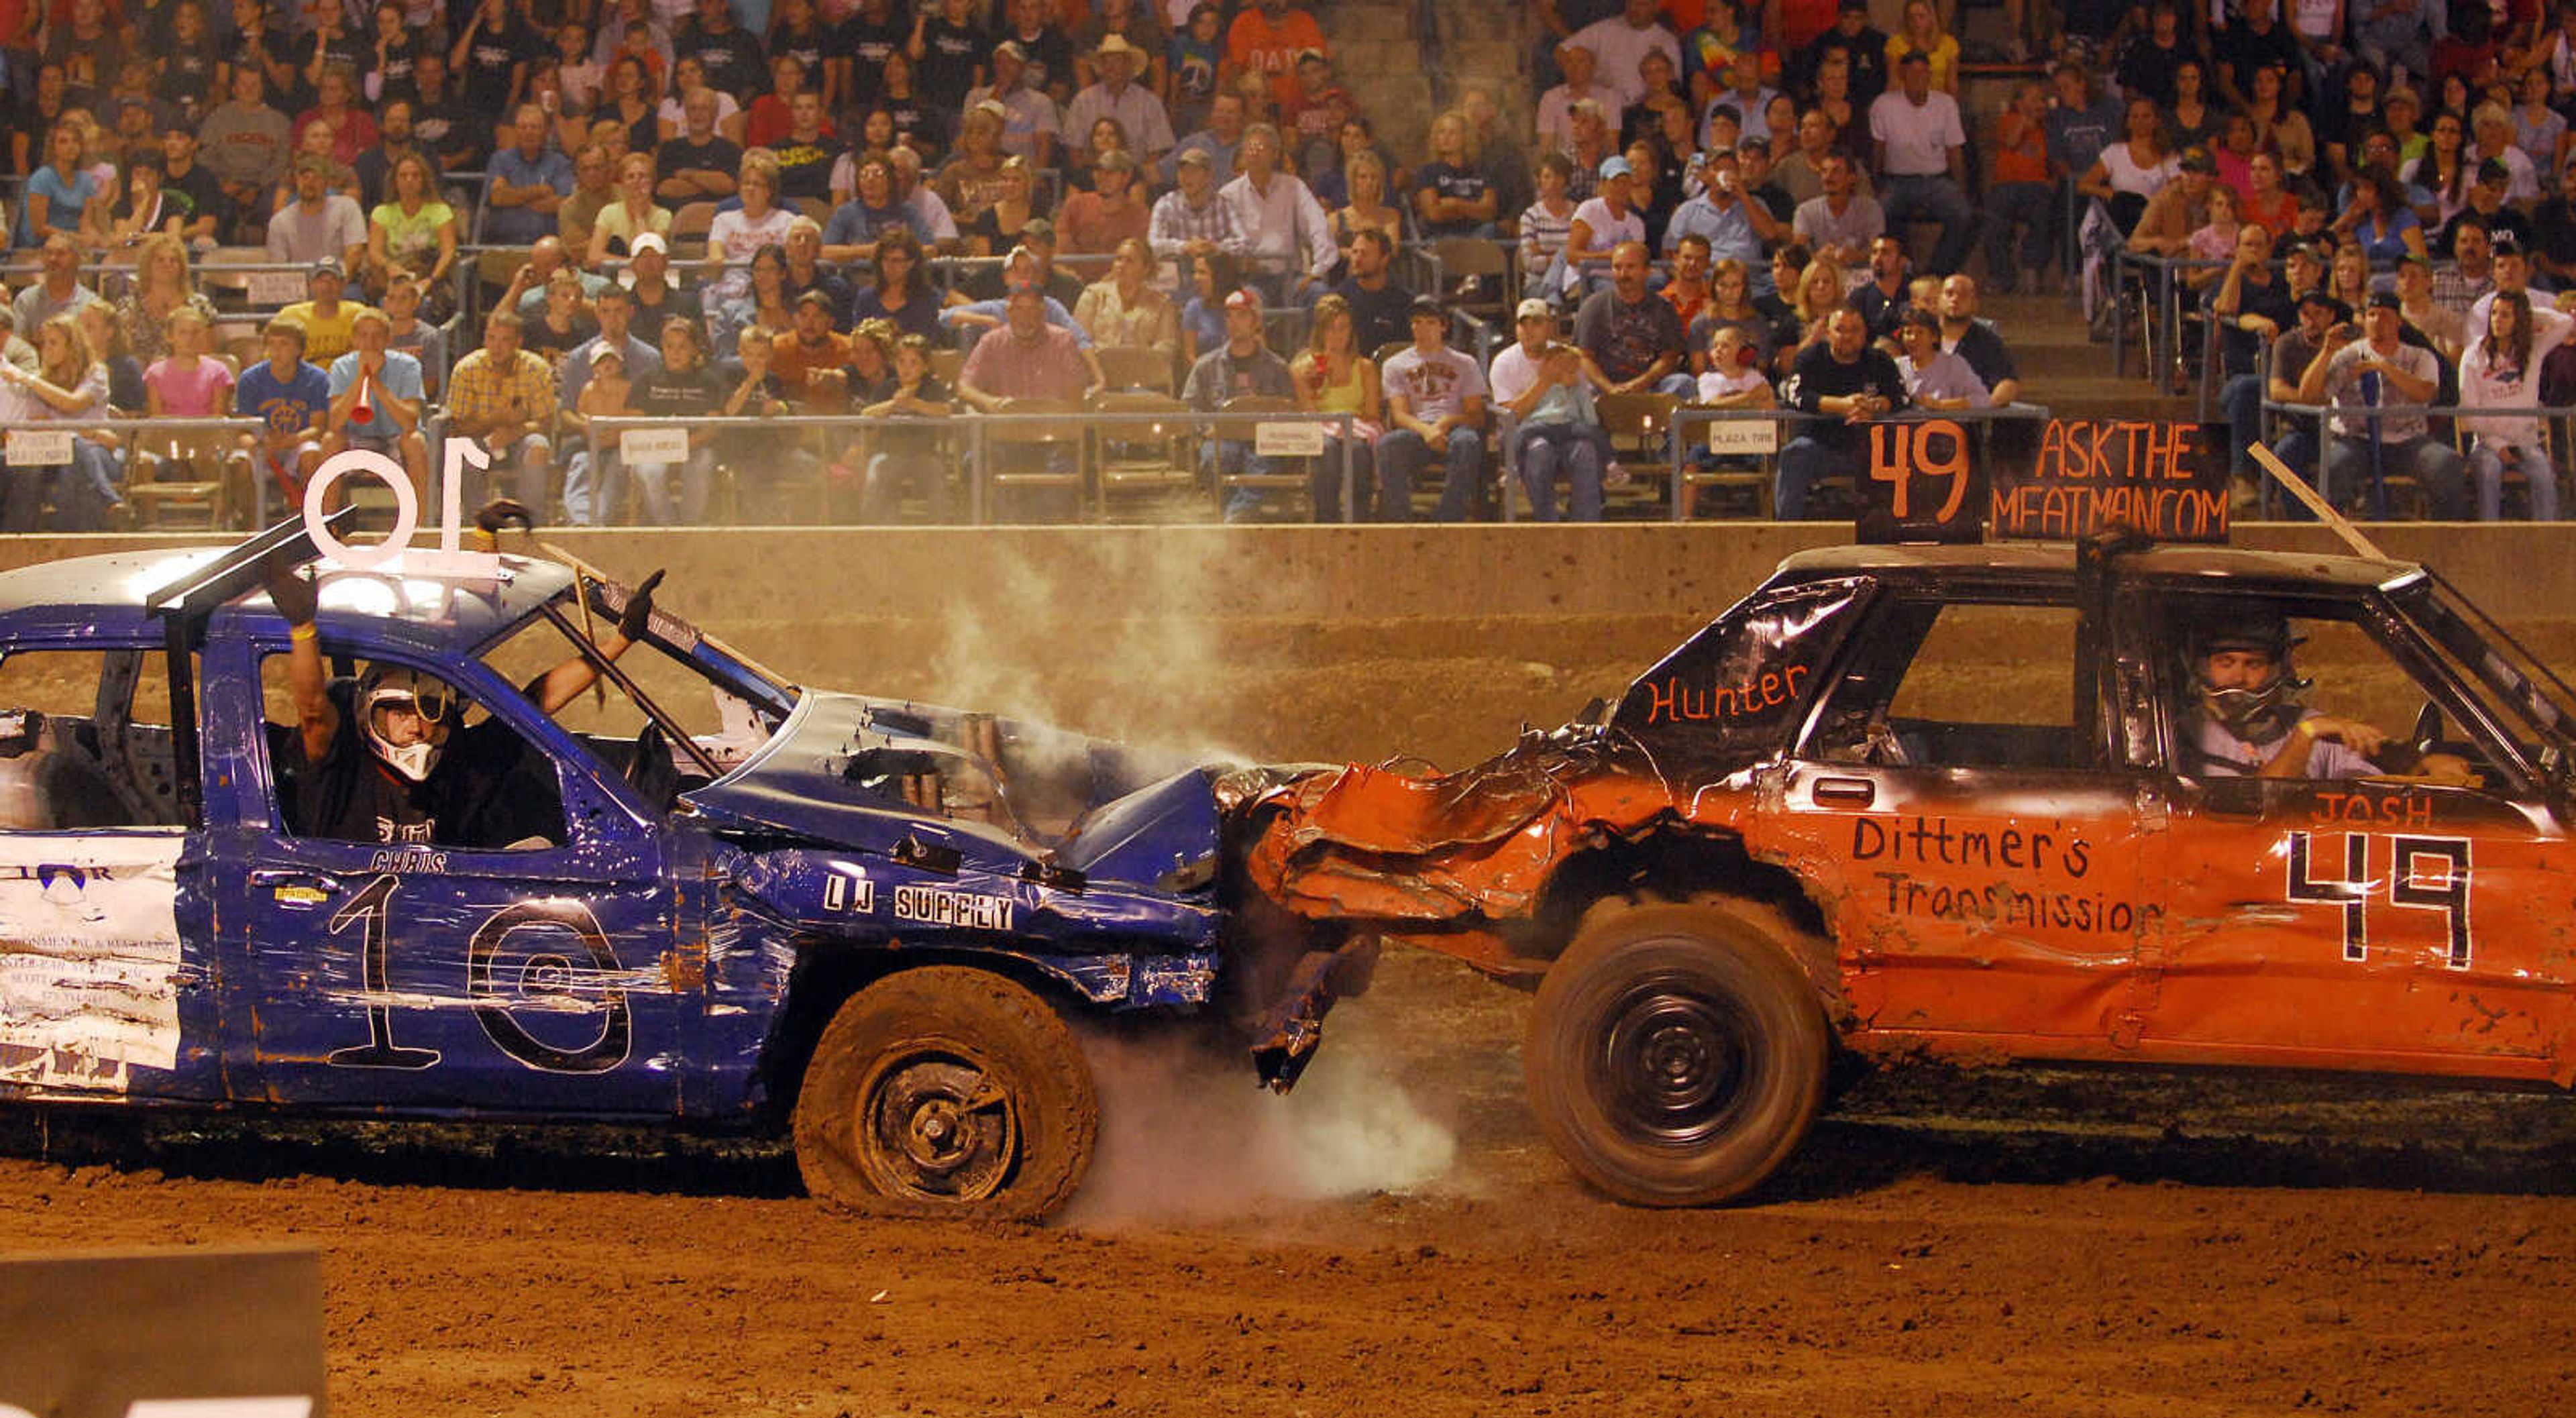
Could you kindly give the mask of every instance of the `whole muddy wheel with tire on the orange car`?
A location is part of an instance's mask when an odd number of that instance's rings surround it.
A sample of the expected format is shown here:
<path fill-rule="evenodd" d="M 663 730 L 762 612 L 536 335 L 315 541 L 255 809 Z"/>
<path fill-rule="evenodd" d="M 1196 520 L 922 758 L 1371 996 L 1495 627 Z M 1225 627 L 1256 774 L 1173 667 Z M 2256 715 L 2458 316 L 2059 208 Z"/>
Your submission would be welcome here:
<path fill-rule="evenodd" d="M 1641 1207 L 1705 1207 L 1798 1150 L 1829 1055 L 1816 988 L 1757 906 L 1605 903 L 1540 981 L 1522 1068 L 1577 1176 Z"/>

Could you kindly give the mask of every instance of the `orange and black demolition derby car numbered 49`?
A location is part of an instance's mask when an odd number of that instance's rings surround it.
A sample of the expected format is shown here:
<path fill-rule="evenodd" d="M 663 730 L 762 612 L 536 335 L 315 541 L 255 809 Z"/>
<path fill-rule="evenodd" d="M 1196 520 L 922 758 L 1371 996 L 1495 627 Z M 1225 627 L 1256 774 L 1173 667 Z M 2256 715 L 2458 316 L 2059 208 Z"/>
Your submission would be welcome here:
<path fill-rule="evenodd" d="M 2568 1086 L 2571 741 L 2421 566 L 1855 546 L 1486 764 L 1270 785 L 1247 872 L 1535 986 L 1556 1150 L 1705 1204 L 1837 1047 Z"/>

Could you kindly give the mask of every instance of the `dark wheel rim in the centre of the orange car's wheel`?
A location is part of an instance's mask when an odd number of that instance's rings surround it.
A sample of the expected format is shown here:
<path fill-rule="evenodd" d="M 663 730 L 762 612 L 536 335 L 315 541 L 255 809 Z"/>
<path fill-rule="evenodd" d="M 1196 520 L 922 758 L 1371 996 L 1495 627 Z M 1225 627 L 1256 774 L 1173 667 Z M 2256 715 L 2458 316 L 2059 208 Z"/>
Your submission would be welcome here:
<path fill-rule="evenodd" d="M 1754 1024 L 1705 981 L 1633 981 L 1605 1014 L 1597 1058 L 1610 1122 L 1638 1143 L 1692 1148 L 1726 1132 L 1759 1076 Z"/>

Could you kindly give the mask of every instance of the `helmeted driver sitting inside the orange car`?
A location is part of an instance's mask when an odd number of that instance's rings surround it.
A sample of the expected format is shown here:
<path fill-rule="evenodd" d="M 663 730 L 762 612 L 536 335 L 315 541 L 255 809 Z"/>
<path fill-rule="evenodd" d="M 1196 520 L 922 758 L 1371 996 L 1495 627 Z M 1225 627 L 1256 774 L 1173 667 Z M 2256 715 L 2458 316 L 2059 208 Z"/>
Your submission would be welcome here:
<path fill-rule="evenodd" d="M 2416 751 L 2360 718 L 2306 708 L 2290 623 L 2269 607 L 2233 607 L 2200 625 L 2187 649 L 2190 746 L 2210 777 L 2424 777 L 2470 780 L 2458 754 Z"/>

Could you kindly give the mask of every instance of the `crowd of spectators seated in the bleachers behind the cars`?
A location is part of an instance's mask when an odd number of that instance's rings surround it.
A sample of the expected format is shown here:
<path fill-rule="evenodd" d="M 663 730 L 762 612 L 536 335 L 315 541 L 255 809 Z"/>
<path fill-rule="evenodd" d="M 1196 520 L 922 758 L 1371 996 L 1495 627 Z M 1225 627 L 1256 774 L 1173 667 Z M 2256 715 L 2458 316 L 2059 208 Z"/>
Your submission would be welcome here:
<path fill-rule="evenodd" d="M 0 0 L 0 425 L 80 427 L 0 525 L 165 481 L 240 520 L 340 448 L 425 486 L 435 435 L 572 522 L 953 517 L 974 479 L 1059 517 L 1141 425 L 956 430 L 1149 396 L 1342 414 L 1327 458 L 1175 445 L 1229 517 L 1492 517 L 1499 484 L 1600 517 L 1728 466 L 1659 443 L 1685 404 L 1772 409 L 1754 507 L 1801 517 L 1860 422 L 2020 399 L 1978 260 L 2110 309 L 2102 255 L 2174 257 L 2246 437 L 2532 404 L 2576 324 L 2517 299 L 2576 278 L 2576 13 L 2535 0 L 2007 5 L 1994 54 L 1947 0 L 1533 10 L 1528 93 L 1471 77 L 1391 152 L 1291 0 Z M 1960 108 L 2035 46 L 2045 80 Z M 2540 419 L 2465 427 L 2468 461 L 2419 414 L 2280 443 L 2336 497 L 2393 456 L 2434 510 L 2473 463 L 2481 510 L 2550 515 Z"/>

